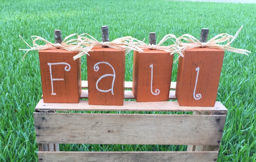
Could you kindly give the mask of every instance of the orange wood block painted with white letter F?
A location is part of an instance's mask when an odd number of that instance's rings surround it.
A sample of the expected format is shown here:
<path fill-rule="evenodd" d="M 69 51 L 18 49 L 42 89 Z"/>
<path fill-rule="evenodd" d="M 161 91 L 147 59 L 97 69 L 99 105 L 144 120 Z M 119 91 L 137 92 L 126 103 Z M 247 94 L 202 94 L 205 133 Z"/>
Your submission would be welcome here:
<path fill-rule="evenodd" d="M 63 49 L 39 50 L 45 103 L 79 103 L 82 93 L 81 60 L 77 52 Z"/>

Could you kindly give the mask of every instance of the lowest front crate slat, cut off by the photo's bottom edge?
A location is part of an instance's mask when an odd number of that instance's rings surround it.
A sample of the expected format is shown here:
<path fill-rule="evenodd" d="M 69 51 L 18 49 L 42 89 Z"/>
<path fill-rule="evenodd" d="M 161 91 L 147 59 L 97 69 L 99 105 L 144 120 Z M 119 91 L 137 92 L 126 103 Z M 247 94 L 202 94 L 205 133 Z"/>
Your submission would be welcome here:
<path fill-rule="evenodd" d="M 218 151 L 208 152 L 42 152 L 39 162 L 216 162 Z"/>

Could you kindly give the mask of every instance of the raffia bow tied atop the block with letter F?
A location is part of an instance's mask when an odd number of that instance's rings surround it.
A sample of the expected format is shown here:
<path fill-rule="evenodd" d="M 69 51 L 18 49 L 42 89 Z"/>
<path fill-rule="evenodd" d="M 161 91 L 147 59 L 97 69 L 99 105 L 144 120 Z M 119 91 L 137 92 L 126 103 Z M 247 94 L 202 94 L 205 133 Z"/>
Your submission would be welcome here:
<path fill-rule="evenodd" d="M 74 36 L 77 36 L 77 38 L 67 40 L 67 39 L 69 39 L 71 37 L 74 37 Z M 71 34 L 71 35 L 65 37 L 65 39 L 61 43 L 56 43 L 56 44 L 54 44 L 52 42 L 49 42 L 49 41 L 47 41 L 44 38 L 39 37 L 39 36 L 31 36 L 31 39 L 33 40 L 33 47 L 30 46 L 21 36 L 20 36 L 20 38 L 26 43 L 26 45 L 28 47 L 30 47 L 30 49 L 19 49 L 19 50 L 26 51 L 22 60 L 25 58 L 26 54 L 31 50 L 45 50 L 45 49 L 50 49 L 50 48 L 55 47 L 55 48 L 58 48 L 58 49 L 64 49 L 64 50 L 68 50 L 68 51 L 81 51 L 79 54 L 84 55 L 84 54 L 88 54 L 88 52 L 91 51 L 91 49 L 94 47 L 94 45 L 90 45 L 90 46 L 85 47 L 83 45 L 83 43 L 81 42 L 81 39 L 79 38 L 78 34 Z M 33 39 L 33 38 L 35 38 L 35 39 Z M 38 40 L 42 40 L 48 45 L 47 46 L 38 45 L 36 43 L 36 41 L 38 41 Z"/>

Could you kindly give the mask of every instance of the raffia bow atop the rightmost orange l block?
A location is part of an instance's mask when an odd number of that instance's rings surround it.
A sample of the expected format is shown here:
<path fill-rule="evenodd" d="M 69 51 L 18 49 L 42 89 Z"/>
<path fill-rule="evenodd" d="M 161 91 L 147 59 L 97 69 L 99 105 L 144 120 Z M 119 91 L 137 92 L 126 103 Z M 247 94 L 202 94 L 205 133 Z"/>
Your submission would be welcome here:
<path fill-rule="evenodd" d="M 183 53 L 186 49 L 197 48 L 197 47 L 201 47 L 201 48 L 207 47 L 207 48 L 213 48 L 213 49 L 227 50 L 235 53 L 241 53 L 248 56 L 246 52 L 251 53 L 251 51 L 248 51 L 246 49 L 237 49 L 237 48 L 230 47 L 231 43 L 236 39 L 236 37 L 238 36 L 242 28 L 243 26 L 241 26 L 241 28 L 236 32 L 234 36 L 229 35 L 227 33 L 222 33 L 222 34 L 216 35 L 206 43 L 200 42 L 192 35 L 184 34 L 176 39 L 176 45 L 177 45 L 177 48 L 179 49 L 173 50 L 172 53 L 177 53 L 177 52 Z M 190 43 L 183 43 L 182 40 L 188 41 Z M 227 42 L 227 43 L 225 45 L 219 44 L 224 42 Z"/>

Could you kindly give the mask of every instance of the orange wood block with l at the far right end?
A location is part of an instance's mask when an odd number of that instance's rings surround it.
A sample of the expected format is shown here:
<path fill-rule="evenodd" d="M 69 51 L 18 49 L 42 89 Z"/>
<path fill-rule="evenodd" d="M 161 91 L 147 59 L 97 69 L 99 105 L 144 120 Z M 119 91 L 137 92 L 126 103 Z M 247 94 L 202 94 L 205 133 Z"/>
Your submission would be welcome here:
<path fill-rule="evenodd" d="M 224 51 L 193 48 L 179 58 L 176 97 L 180 106 L 214 106 Z"/>

